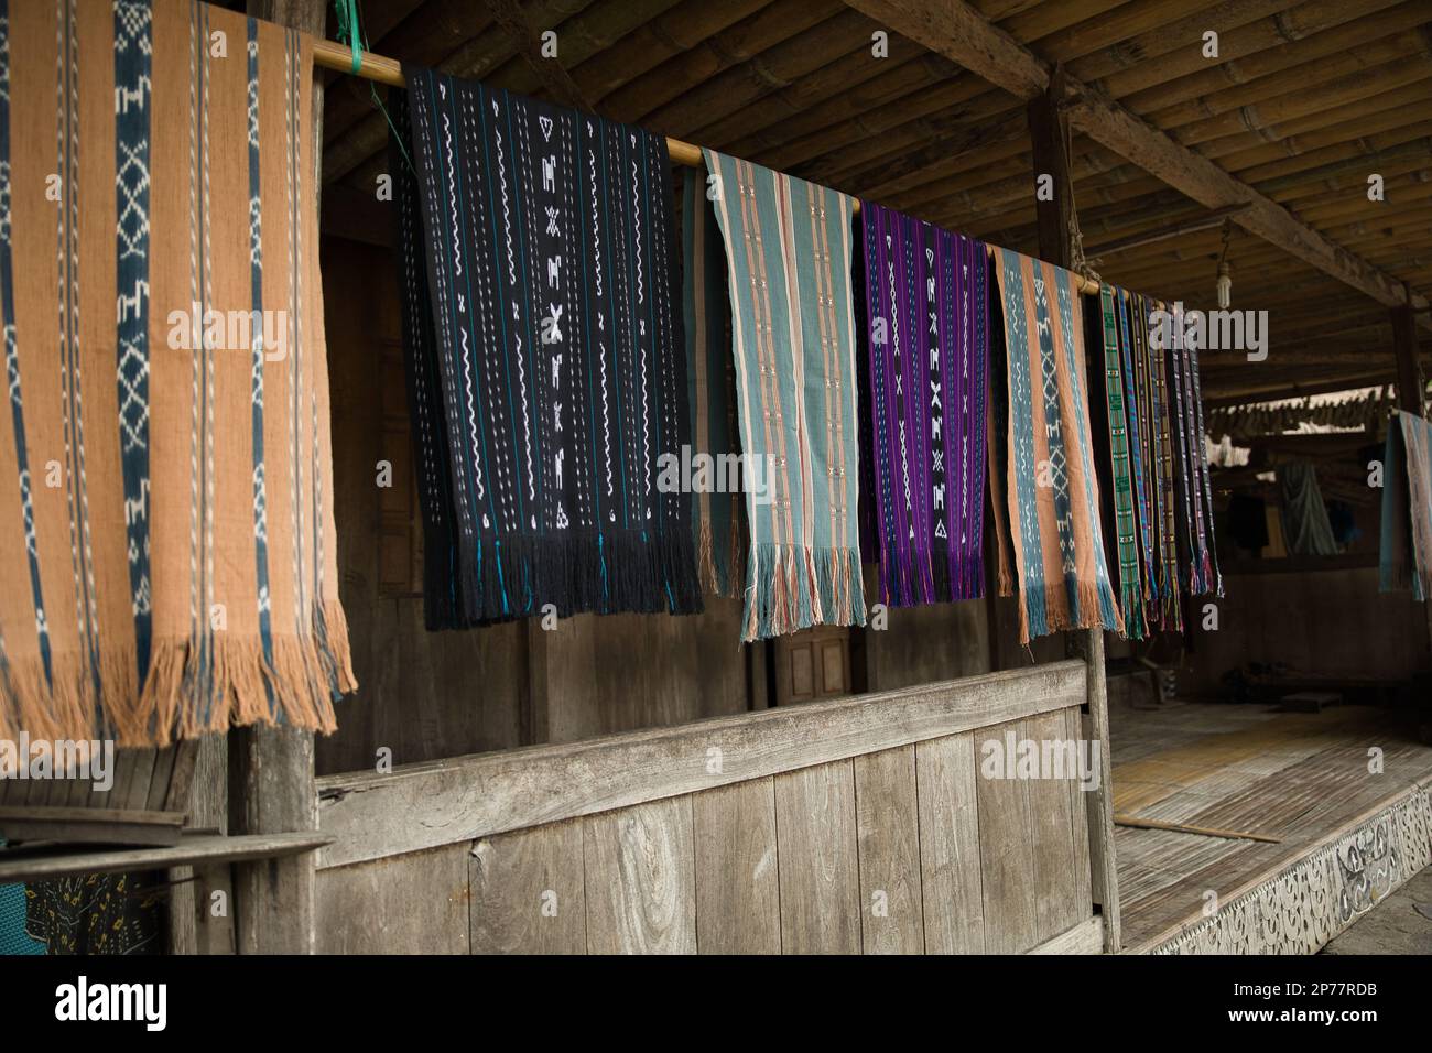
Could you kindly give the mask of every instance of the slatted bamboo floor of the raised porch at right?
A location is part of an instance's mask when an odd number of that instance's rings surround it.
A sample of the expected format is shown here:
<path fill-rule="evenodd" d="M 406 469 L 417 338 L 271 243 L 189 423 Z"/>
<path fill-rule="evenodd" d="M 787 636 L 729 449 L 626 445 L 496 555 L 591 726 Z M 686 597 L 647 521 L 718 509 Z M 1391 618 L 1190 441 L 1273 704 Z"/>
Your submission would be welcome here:
<path fill-rule="evenodd" d="M 1432 778 L 1432 748 L 1385 709 L 1279 713 L 1184 703 L 1111 715 L 1114 811 L 1244 832 L 1259 844 L 1173 831 L 1114 832 L 1124 944 L 1137 948 L 1227 901 L 1327 834 Z M 1158 741 L 1167 748 L 1150 748 Z M 1368 772 L 1369 748 L 1383 772 Z M 1133 755 L 1134 759 L 1124 759 Z"/>

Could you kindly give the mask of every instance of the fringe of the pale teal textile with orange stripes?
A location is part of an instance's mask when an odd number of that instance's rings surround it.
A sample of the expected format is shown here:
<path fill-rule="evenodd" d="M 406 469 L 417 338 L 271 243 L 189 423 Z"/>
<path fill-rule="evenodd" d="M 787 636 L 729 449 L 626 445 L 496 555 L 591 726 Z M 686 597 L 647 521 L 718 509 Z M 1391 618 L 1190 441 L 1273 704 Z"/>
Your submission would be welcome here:
<path fill-rule="evenodd" d="M 755 544 L 746 582 L 746 643 L 816 625 L 865 625 L 858 549 Z"/>

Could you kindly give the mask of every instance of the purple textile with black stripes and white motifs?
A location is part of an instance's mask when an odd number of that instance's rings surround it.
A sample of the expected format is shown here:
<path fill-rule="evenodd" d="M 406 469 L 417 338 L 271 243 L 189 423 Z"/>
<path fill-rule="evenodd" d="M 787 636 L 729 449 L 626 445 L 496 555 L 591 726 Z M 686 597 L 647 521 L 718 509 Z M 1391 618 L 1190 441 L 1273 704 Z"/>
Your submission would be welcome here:
<path fill-rule="evenodd" d="M 985 246 L 869 201 L 861 223 L 881 602 L 982 596 Z"/>

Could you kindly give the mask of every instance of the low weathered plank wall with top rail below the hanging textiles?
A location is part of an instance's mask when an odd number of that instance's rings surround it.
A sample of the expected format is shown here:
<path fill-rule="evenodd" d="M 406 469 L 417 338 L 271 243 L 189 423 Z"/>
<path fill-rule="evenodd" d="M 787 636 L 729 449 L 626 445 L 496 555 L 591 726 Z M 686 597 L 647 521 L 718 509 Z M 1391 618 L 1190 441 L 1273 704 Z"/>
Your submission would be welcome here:
<path fill-rule="evenodd" d="M 1078 738 L 1083 676 L 1065 662 L 324 779 L 321 825 L 344 840 L 319 858 L 318 948 L 1097 950 L 1078 785 L 979 771 L 1007 731 Z M 418 808 L 421 834 L 394 822 Z"/>

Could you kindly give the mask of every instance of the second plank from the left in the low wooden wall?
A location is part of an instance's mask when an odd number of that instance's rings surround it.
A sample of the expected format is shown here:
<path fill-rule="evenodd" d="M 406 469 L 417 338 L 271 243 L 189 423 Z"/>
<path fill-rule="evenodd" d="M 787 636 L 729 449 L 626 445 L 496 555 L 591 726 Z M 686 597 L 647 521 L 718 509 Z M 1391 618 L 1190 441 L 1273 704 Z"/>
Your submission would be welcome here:
<path fill-rule="evenodd" d="M 473 845 L 473 954 L 581 954 L 586 874 L 579 819 Z"/>

